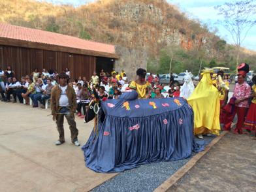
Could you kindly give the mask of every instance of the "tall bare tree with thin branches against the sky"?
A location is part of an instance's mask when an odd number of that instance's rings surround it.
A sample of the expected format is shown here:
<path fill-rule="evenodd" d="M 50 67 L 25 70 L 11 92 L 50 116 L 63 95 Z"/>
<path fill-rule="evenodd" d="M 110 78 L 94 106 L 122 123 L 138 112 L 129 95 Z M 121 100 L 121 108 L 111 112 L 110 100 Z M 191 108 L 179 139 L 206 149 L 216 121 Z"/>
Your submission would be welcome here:
<path fill-rule="evenodd" d="M 219 21 L 231 34 L 236 45 L 236 65 L 239 63 L 241 44 L 246 39 L 251 27 L 255 26 L 256 4 L 255 0 L 233 1 L 215 7 L 223 20 Z"/>

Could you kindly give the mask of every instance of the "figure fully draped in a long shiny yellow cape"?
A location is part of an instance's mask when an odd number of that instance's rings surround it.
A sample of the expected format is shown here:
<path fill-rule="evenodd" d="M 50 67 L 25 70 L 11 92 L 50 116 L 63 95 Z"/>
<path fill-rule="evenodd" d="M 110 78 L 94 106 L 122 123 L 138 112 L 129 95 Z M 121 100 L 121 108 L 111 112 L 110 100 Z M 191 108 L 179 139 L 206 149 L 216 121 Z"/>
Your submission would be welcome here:
<path fill-rule="evenodd" d="M 213 69 L 204 69 L 202 79 L 187 99 L 194 111 L 194 134 L 219 135 L 219 91 L 212 83 Z"/>

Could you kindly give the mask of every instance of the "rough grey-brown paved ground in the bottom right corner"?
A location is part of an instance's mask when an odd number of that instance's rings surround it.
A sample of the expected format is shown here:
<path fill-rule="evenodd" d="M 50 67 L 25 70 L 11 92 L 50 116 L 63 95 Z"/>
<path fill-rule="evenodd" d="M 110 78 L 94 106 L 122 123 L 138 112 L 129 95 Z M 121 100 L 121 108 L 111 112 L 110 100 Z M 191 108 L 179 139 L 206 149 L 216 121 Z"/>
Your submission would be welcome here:
<path fill-rule="evenodd" d="M 169 191 L 256 191 L 255 136 L 228 133 Z"/>

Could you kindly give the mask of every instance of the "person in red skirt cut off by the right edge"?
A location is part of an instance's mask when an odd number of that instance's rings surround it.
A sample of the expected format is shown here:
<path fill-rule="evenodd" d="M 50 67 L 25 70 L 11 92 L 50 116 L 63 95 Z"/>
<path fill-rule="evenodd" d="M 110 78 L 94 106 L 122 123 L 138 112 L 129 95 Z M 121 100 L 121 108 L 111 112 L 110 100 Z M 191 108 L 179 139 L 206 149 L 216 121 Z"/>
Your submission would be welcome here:
<path fill-rule="evenodd" d="M 249 106 L 249 111 L 244 121 L 244 129 L 248 131 L 254 131 L 256 133 L 256 75 L 252 78 L 253 86 L 251 91 L 251 105 Z M 256 136 L 256 134 L 255 134 Z"/>

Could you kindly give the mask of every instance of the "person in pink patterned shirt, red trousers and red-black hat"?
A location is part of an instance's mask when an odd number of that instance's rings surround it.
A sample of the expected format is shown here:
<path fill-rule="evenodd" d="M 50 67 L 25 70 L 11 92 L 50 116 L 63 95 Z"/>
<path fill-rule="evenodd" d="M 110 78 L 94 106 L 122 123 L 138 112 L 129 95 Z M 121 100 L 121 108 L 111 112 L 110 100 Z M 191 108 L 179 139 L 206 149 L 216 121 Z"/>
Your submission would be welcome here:
<path fill-rule="evenodd" d="M 251 98 L 251 87 L 246 83 L 246 74 L 249 72 L 249 65 L 246 63 L 242 63 L 238 66 L 238 79 L 236 86 L 234 86 L 233 96 L 236 98 L 234 102 L 235 112 L 225 118 L 223 129 L 226 131 L 231 130 L 231 123 L 234 119 L 234 116 L 237 114 L 237 123 L 236 129 L 234 129 L 234 133 L 242 134 L 242 127 L 244 125 L 244 119 L 246 117 L 246 112 L 249 108 L 249 98 Z"/>

